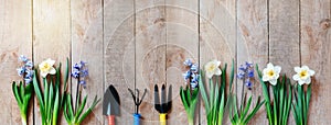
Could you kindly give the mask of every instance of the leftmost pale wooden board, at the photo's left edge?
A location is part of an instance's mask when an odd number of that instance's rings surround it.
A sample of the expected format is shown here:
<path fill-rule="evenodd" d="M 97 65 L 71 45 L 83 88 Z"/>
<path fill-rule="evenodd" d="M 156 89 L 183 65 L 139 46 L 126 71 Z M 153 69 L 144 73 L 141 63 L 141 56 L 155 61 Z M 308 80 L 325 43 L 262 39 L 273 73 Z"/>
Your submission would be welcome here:
<path fill-rule="evenodd" d="M 31 1 L 0 1 L 0 106 L 2 124 L 21 124 L 20 110 L 11 90 L 12 81 L 23 80 L 17 73 L 22 66 L 18 58 L 25 55 L 32 58 L 32 11 Z M 33 98 L 32 98 L 33 99 Z M 28 124 L 33 124 L 33 104 L 31 101 Z"/>

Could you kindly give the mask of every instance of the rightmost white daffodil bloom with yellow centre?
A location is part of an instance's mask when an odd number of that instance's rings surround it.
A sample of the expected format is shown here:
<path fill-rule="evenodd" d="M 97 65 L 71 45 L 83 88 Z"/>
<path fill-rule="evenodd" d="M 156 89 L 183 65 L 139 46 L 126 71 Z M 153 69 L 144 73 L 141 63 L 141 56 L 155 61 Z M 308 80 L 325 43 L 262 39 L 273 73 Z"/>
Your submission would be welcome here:
<path fill-rule="evenodd" d="M 308 66 L 295 67 L 297 75 L 293 76 L 293 80 L 298 81 L 300 86 L 309 84 L 311 82 L 310 77 L 314 75 L 314 71 L 309 69 Z"/>

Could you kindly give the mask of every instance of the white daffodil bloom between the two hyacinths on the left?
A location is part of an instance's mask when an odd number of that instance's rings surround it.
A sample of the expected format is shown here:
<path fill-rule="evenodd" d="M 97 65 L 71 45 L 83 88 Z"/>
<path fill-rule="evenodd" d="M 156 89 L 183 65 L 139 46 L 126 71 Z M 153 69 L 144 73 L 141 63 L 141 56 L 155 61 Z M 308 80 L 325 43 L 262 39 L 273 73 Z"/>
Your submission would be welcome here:
<path fill-rule="evenodd" d="M 53 67 L 54 64 L 55 64 L 55 60 L 52 60 L 51 58 L 49 58 L 39 65 L 40 73 L 43 78 L 45 78 L 49 73 L 50 75 L 56 73 L 55 68 Z"/>

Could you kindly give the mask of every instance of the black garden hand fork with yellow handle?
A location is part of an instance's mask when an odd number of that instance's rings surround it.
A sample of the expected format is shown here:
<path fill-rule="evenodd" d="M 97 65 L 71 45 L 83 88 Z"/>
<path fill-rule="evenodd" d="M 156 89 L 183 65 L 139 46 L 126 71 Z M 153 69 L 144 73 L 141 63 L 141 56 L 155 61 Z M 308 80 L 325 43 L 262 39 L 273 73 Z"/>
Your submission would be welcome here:
<path fill-rule="evenodd" d="M 160 100 L 158 84 L 154 86 L 154 106 L 156 110 L 160 113 L 160 125 L 167 125 L 167 113 L 171 109 L 171 94 L 172 94 L 172 88 L 170 86 L 168 91 L 168 100 L 167 100 L 166 86 L 163 84 L 161 89 L 161 100 Z"/>

